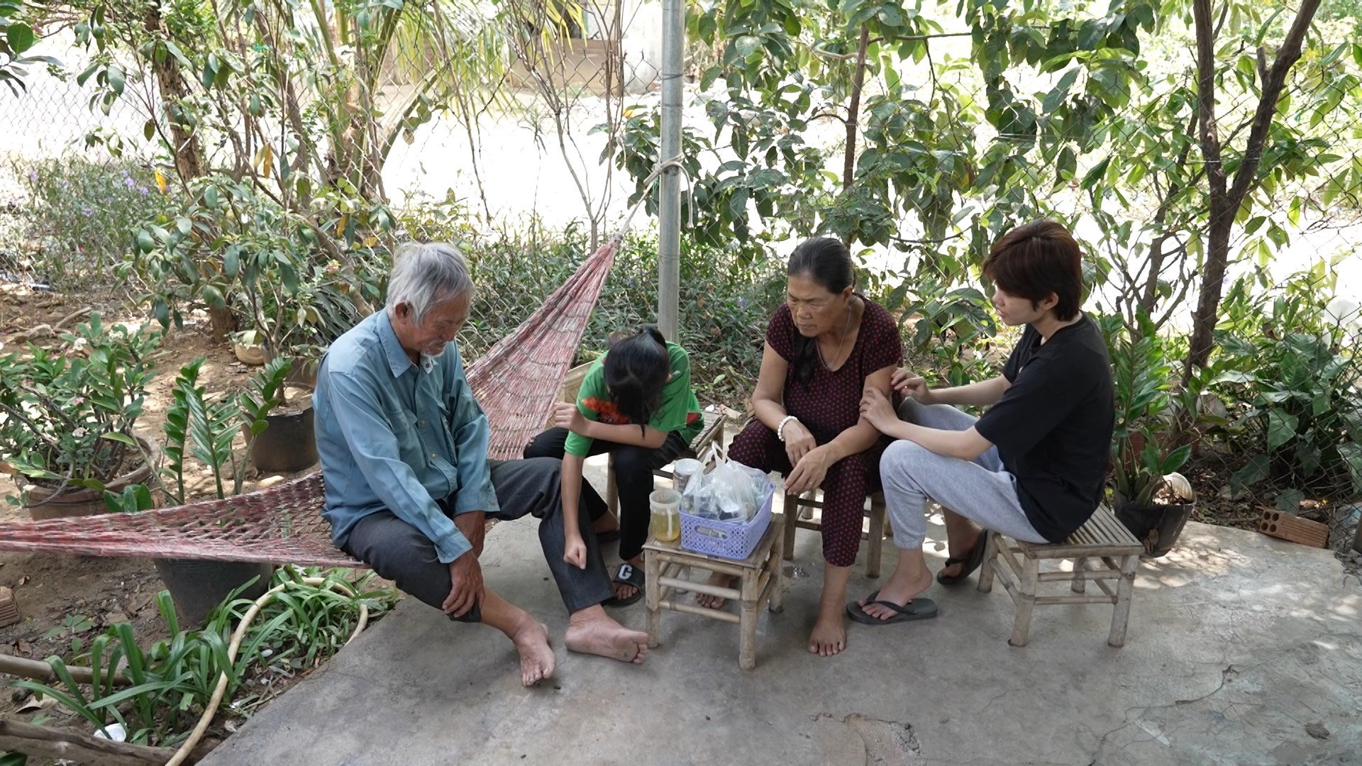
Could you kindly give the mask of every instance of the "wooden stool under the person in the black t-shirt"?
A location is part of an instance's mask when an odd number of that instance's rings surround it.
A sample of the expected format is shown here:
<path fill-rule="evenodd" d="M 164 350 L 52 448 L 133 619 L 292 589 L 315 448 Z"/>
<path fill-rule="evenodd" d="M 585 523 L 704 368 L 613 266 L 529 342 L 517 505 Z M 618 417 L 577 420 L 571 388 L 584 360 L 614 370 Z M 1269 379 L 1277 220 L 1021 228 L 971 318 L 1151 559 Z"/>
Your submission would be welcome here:
<path fill-rule="evenodd" d="M 1125 645 L 1135 570 L 1140 564 L 1144 547 L 1111 515 L 1110 508 L 1099 506 L 1092 518 L 1064 542 L 1020 542 L 997 532 L 990 530 L 987 534 L 979 590 L 985 593 L 993 590 L 993 575 L 1002 574 L 1002 586 L 1007 587 L 1017 611 L 1008 643 L 1026 646 L 1027 632 L 1031 630 L 1031 611 L 1038 605 L 1114 604 L 1107 643 Z M 1042 559 L 1073 559 L 1073 571 L 1042 572 Z M 1098 583 L 1102 596 L 1086 594 L 1086 583 L 1090 579 Z M 1117 581 L 1114 590 L 1107 583 L 1109 579 Z M 1079 596 L 1036 596 L 1036 585 L 1041 582 L 1071 582 L 1073 593 Z"/>

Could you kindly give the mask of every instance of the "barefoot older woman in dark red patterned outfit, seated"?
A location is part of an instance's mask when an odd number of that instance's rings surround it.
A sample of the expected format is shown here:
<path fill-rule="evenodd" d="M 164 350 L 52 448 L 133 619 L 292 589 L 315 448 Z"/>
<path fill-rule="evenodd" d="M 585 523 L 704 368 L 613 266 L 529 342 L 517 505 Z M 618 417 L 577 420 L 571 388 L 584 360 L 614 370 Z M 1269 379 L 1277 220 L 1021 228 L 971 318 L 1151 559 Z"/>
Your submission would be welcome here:
<path fill-rule="evenodd" d="M 851 254 L 831 237 L 801 243 L 790 255 L 786 305 L 767 327 L 752 402 L 756 420 L 729 455 L 786 477 L 787 493 L 823 489 L 823 596 L 809 652 L 846 649 L 843 604 L 861 545 L 865 499 L 880 488 L 880 455 L 889 444 L 861 417 L 866 388 L 891 397 L 889 378 L 903 363 L 893 318 L 854 292 Z M 726 585 L 729 578 L 714 575 Z M 720 598 L 700 596 L 718 608 Z"/>

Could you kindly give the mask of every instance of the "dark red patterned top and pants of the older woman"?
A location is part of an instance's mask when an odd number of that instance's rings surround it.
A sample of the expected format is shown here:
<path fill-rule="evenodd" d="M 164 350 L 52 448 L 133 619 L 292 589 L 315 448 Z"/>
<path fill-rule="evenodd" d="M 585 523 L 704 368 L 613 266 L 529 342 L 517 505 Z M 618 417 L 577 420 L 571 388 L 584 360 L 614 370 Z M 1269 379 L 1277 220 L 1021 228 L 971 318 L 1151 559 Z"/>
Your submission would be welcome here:
<path fill-rule="evenodd" d="M 782 305 L 767 327 L 767 342 L 790 363 L 785 379 L 785 409 L 799 418 L 820 446 L 861 420 L 861 391 L 870 373 L 903 364 L 903 342 L 893 318 L 878 304 L 858 297 L 865 303 L 865 313 L 851 354 L 836 372 L 828 371 L 817 358 L 808 383 L 795 380 L 794 338 L 799 331 L 790 318 L 790 307 Z M 823 480 L 823 559 L 834 567 L 855 563 L 861 547 L 862 507 L 868 495 L 880 491 L 880 455 L 889 442 L 888 436 L 880 436 L 869 450 L 828 468 Z M 759 470 L 775 470 L 782 476 L 791 470 L 785 443 L 760 420 L 749 423 L 733 439 L 729 455 Z"/>

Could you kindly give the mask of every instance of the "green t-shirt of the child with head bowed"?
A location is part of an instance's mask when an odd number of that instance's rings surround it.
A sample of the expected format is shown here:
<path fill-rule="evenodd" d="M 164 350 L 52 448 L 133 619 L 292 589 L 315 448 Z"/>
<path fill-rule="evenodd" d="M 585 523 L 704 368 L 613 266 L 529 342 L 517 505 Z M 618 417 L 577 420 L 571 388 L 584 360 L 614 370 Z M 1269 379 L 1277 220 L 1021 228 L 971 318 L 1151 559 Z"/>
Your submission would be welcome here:
<path fill-rule="evenodd" d="M 691 390 L 691 356 L 676 343 L 667 343 L 667 356 L 671 364 L 671 378 L 662 388 L 662 402 L 652 413 L 652 418 L 648 420 L 648 425 L 663 433 L 674 431 L 689 444 L 704 429 L 700 401 Z M 587 420 L 598 423 L 629 424 L 629 418 L 620 413 L 614 402 L 610 401 L 610 391 L 605 386 L 605 357 L 598 358 L 587 369 L 586 378 L 582 379 L 582 390 L 577 393 L 577 412 Z M 584 458 L 591 451 L 592 442 L 586 436 L 568 433 L 563 448 L 568 454 Z"/>

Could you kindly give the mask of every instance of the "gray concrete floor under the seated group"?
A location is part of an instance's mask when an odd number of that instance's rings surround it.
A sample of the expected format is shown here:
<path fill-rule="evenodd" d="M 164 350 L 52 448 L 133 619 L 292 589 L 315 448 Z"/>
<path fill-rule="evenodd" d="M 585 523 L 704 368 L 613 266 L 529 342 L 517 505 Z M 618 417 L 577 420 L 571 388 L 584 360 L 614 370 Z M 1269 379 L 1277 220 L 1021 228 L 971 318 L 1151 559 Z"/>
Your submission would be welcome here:
<path fill-rule="evenodd" d="M 876 587 L 864 551 L 851 596 Z M 1327 551 L 1189 523 L 1141 564 L 1124 649 L 1100 605 L 1038 608 L 1011 647 L 1011 600 L 971 579 L 933 586 L 936 620 L 851 624 L 834 658 L 805 650 L 820 566 L 801 532 L 755 671 L 735 626 L 681 613 L 631 667 L 563 647 L 534 522 L 503 523 L 484 572 L 548 623 L 552 683 L 522 688 L 500 634 L 407 600 L 203 763 L 1362 763 L 1362 583 Z M 614 613 L 643 628 L 642 601 Z"/>

